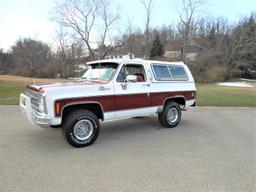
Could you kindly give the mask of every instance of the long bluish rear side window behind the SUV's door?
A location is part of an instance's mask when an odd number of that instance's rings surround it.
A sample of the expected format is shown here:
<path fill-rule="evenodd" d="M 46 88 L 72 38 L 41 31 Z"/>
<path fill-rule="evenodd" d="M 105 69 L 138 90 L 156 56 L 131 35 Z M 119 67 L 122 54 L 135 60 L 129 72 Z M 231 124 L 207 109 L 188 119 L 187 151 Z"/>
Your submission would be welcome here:
<path fill-rule="evenodd" d="M 153 65 L 154 75 L 159 81 L 182 81 L 188 80 L 187 73 L 182 66 Z"/>

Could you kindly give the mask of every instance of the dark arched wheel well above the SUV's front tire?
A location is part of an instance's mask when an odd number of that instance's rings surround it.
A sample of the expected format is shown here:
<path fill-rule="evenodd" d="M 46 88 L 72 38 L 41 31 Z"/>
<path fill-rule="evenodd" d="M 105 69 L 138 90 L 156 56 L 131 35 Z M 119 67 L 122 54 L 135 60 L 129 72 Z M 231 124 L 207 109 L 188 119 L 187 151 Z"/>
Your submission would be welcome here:
<path fill-rule="evenodd" d="M 69 105 L 69 106 L 65 107 L 63 109 L 63 112 L 62 112 L 62 121 L 63 121 L 63 119 L 66 118 L 66 116 L 70 112 L 76 111 L 76 110 L 79 110 L 79 109 L 89 110 L 89 111 L 93 112 L 99 119 L 104 120 L 103 110 L 102 110 L 100 104 L 97 104 L 97 103 L 85 103 L 85 104 L 74 104 L 74 105 Z"/>

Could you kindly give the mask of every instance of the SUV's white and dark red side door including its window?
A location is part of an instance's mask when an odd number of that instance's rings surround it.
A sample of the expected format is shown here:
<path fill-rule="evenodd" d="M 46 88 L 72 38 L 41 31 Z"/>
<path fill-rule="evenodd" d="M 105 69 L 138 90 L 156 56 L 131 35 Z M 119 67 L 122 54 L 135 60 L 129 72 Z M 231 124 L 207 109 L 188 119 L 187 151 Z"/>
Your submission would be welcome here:
<path fill-rule="evenodd" d="M 133 81 L 127 78 L 133 76 Z M 149 112 L 151 106 L 150 84 L 141 64 L 125 64 L 122 66 L 116 82 L 116 118 L 139 116 Z"/>

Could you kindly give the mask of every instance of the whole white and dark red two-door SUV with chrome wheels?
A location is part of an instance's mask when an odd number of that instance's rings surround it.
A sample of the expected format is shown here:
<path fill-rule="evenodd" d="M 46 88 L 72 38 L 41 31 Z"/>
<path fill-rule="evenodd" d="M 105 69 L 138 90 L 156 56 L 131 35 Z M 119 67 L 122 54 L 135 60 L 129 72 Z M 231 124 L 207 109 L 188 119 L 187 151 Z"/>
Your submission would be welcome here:
<path fill-rule="evenodd" d="M 195 106 L 196 88 L 182 62 L 110 59 L 87 63 L 72 83 L 28 85 L 20 107 L 41 127 L 61 126 L 75 147 L 92 144 L 100 121 L 158 114 L 164 127 L 181 120 L 181 109 Z"/>

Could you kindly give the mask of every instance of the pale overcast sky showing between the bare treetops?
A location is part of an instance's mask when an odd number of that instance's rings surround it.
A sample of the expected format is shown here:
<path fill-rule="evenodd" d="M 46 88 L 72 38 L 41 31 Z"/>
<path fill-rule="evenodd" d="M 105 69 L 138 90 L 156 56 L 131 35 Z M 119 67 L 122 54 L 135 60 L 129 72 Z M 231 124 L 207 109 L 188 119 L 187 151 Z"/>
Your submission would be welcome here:
<path fill-rule="evenodd" d="M 57 0 L 61 2 L 61 0 Z M 178 22 L 176 14 L 181 0 L 153 0 L 151 27 Z M 51 21 L 54 0 L 0 0 L 0 49 L 8 50 L 19 38 L 31 37 L 53 43 L 56 24 Z M 120 5 L 118 27 L 125 27 L 129 17 L 134 25 L 143 28 L 144 10 L 140 0 L 112 0 Z M 209 0 L 204 7 L 205 16 L 222 16 L 234 23 L 240 17 L 256 11 L 256 0 Z"/>

